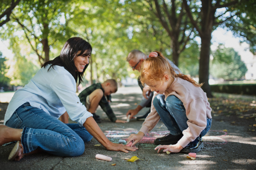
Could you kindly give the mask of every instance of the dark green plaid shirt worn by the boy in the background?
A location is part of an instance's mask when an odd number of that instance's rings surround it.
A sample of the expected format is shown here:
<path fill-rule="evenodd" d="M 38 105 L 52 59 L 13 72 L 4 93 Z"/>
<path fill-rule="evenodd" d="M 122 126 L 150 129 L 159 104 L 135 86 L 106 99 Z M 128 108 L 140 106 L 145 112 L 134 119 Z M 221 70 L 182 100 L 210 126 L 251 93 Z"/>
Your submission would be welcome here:
<path fill-rule="evenodd" d="M 101 86 L 101 83 L 95 83 L 89 87 L 87 87 L 86 89 L 84 89 L 78 96 L 80 101 L 85 105 L 86 103 L 86 97 L 88 95 L 90 95 L 93 91 L 95 91 L 96 89 L 100 88 L 103 91 L 104 94 L 104 89 Z M 99 102 L 100 107 L 102 108 L 102 110 L 107 114 L 108 119 L 110 119 L 112 122 L 116 122 L 116 115 L 114 114 L 113 110 L 111 109 L 108 100 L 106 99 L 106 97 L 108 97 L 108 99 L 111 98 L 111 96 L 102 96 L 102 99 Z"/>

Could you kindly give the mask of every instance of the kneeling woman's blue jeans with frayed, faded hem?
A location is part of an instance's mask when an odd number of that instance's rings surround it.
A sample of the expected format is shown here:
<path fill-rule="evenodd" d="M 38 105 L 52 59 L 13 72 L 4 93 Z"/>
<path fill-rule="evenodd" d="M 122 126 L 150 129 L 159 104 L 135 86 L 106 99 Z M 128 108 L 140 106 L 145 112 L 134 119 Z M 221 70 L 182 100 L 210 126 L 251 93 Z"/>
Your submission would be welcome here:
<path fill-rule="evenodd" d="M 40 149 L 56 156 L 79 156 L 84 153 L 84 142 L 93 138 L 83 126 L 64 124 L 29 102 L 17 108 L 6 126 L 23 128 L 24 153 Z"/>

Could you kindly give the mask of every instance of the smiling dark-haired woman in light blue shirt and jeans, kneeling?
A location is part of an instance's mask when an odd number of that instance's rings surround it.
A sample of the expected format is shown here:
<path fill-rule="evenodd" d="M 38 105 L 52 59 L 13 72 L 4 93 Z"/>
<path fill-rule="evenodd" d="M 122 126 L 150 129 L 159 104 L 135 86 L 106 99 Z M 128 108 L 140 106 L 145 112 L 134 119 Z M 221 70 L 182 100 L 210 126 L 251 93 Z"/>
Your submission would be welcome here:
<path fill-rule="evenodd" d="M 76 82 L 89 64 L 91 45 L 79 37 L 67 40 L 61 54 L 44 63 L 24 88 L 17 90 L 0 125 L 0 146 L 17 141 L 9 160 L 45 151 L 56 156 L 79 156 L 93 137 L 107 150 L 135 151 L 108 140 L 76 95 Z M 64 124 L 64 115 L 78 124 Z"/>

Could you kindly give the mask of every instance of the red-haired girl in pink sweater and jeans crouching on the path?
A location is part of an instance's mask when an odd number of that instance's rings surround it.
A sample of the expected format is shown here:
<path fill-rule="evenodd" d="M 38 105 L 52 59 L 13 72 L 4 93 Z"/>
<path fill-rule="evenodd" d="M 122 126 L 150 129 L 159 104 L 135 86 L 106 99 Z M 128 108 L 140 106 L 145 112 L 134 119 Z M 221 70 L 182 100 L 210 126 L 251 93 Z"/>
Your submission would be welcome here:
<path fill-rule="evenodd" d="M 155 139 L 157 153 L 198 152 L 204 146 L 202 136 L 210 129 L 212 116 L 206 93 L 190 77 L 176 74 L 163 54 L 154 51 L 142 64 L 140 81 L 157 94 L 139 133 L 131 134 L 133 146 L 161 119 L 170 134 Z"/>

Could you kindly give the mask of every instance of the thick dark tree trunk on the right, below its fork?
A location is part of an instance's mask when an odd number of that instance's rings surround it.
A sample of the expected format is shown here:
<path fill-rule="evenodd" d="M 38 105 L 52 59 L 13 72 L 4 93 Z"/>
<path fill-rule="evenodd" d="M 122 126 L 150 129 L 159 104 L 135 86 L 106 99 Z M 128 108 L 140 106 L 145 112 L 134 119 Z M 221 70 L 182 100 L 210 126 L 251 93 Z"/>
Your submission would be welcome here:
<path fill-rule="evenodd" d="M 201 52 L 199 60 L 199 83 L 204 83 L 204 85 L 202 85 L 202 89 L 209 98 L 213 97 L 209 85 L 209 59 L 211 38 L 211 33 L 205 33 L 201 36 Z"/>

